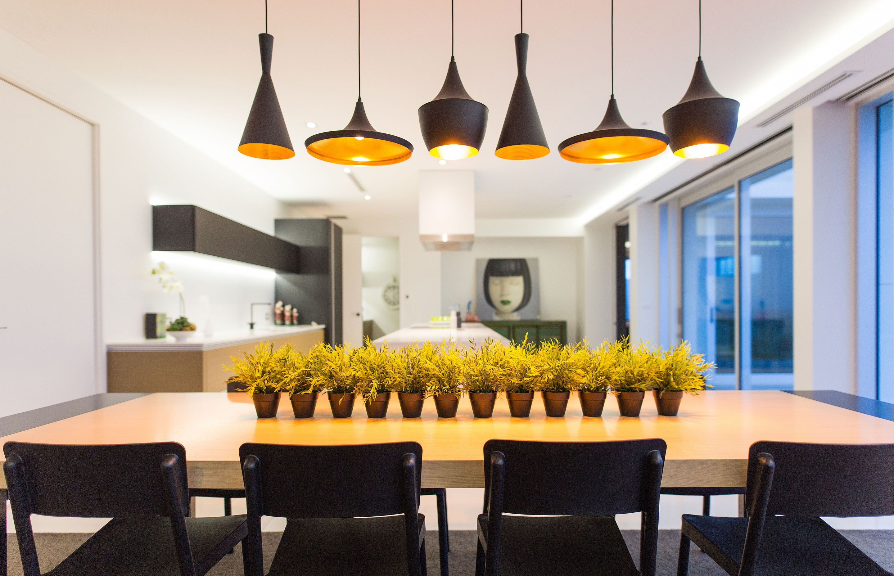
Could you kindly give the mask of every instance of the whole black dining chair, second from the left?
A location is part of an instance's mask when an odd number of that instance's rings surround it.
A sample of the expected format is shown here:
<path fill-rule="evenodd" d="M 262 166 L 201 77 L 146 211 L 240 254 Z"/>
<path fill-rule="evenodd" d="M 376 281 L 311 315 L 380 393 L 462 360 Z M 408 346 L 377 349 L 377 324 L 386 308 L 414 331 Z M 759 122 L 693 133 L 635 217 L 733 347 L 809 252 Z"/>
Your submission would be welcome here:
<path fill-rule="evenodd" d="M 269 576 L 423 576 L 422 446 L 244 444 L 246 574 L 263 576 L 261 516 L 286 518 Z"/>

